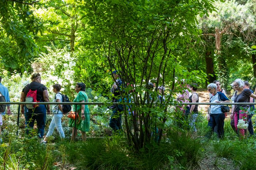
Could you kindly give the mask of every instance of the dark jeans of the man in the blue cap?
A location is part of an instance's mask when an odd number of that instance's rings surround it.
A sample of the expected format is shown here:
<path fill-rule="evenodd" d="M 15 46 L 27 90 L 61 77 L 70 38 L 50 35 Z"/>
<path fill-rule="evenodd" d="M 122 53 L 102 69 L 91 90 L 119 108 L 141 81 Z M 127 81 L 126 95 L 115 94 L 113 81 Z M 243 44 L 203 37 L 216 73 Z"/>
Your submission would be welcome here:
<path fill-rule="evenodd" d="M 122 129 L 122 111 L 124 111 L 124 107 L 121 104 L 118 104 L 116 107 L 112 108 L 109 126 L 113 129 L 113 131 Z"/>

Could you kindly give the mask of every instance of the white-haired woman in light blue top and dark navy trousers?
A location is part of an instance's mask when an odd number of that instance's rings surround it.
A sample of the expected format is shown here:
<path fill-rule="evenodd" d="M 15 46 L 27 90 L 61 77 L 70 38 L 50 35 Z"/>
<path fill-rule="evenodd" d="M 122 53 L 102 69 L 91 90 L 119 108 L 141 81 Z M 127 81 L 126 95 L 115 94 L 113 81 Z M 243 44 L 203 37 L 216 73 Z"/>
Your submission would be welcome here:
<path fill-rule="evenodd" d="M 217 85 L 215 83 L 210 83 L 207 86 L 208 91 L 212 94 L 210 103 L 228 103 L 229 99 L 222 92 L 217 92 Z M 211 138 L 214 128 L 217 127 L 217 134 L 219 138 L 224 136 L 224 119 L 225 114 L 221 111 L 221 105 L 211 105 L 211 112 L 207 116 L 208 126 L 211 131 L 206 134 L 207 138 Z"/>

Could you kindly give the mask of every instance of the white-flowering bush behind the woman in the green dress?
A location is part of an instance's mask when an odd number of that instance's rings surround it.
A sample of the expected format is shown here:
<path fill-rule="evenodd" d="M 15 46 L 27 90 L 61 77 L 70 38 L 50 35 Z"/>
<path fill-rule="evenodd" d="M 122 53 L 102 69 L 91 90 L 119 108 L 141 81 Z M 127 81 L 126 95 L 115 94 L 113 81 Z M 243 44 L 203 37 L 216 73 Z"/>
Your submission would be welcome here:
<path fill-rule="evenodd" d="M 45 47 L 47 53 L 41 53 L 41 57 L 32 64 L 34 72 L 41 73 L 42 84 L 48 87 L 49 94 L 53 98 L 52 85 L 60 84 L 61 91 L 72 100 L 75 98 L 75 76 L 76 55 L 64 49 L 52 49 Z"/>

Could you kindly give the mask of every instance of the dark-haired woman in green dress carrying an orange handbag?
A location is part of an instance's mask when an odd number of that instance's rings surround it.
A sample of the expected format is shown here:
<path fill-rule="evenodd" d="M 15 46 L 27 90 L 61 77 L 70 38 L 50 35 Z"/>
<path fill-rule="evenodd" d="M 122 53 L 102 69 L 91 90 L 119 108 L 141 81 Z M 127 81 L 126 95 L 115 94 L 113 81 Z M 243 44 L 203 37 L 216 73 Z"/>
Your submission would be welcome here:
<path fill-rule="evenodd" d="M 77 92 L 77 96 L 73 102 L 88 102 L 88 96 L 85 93 L 85 84 L 77 83 L 75 87 L 75 91 Z M 69 127 L 72 127 L 72 137 L 71 141 L 74 141 L 77 135 L 77 130 L 80 130 L 82 133 L 83 141 L 86 141 L 86 132 L 90 129 L 90 112 L 88 105 L 75 105 L 73 104 L 72 110 L 77 111 L 79 115 L 79 119 L 76 119 L 76 128 L 75 128 L 75 119 L 69 120 Z M 80 121 L 79 121 L 80 120 Z"/>

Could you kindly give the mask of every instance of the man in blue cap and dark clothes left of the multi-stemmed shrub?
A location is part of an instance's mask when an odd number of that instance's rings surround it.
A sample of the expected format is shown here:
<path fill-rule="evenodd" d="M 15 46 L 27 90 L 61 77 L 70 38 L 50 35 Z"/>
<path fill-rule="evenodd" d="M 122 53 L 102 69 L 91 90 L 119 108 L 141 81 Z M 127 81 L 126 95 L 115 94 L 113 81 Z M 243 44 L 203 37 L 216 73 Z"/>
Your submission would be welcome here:
<path fill-rule="evenodd" d="M 112 102 L 121 102 L 121 90 L 123 88 L 123 82 L 116 70 L 112 71 L 112 78 L 114 80 L 114 84 L 110 90 L 113 96 Z M 124 111 L 123 104 L 114 104 L 110 106 L 110 108 L 112 109 L 112 114 L 109 120 L 109 126 L 113 129 L 113 131 L 122 129 L 121 112 Z"/>

